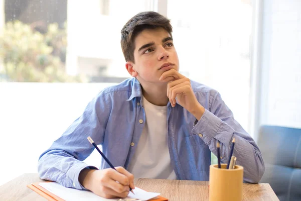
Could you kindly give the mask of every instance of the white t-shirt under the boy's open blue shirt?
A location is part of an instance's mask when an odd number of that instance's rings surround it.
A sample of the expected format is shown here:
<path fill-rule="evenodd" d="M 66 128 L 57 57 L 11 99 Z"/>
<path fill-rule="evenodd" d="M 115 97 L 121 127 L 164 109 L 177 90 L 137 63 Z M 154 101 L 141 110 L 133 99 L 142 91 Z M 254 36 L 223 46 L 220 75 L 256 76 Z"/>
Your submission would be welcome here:
<path fill-rule="evenodd" d="M 167 136 L 167 106 L 156 106 L 143 96 L 145 124 L 128 165 L 135 178 L 177 179 L 171 165 Z"/>

